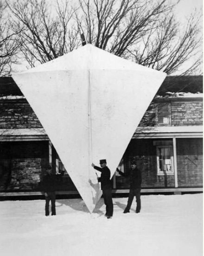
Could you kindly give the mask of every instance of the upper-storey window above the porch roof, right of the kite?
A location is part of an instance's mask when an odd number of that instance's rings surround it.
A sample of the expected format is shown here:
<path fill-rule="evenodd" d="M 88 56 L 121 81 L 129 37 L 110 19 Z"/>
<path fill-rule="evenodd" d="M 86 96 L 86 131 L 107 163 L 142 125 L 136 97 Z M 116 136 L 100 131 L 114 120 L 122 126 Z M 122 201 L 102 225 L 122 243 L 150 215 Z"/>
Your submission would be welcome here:
<path fill-rule="evenodd" d="M 157 106 L 158 123 L 170 124 L 170 104 L 167 102 L 158 103 Z"/>

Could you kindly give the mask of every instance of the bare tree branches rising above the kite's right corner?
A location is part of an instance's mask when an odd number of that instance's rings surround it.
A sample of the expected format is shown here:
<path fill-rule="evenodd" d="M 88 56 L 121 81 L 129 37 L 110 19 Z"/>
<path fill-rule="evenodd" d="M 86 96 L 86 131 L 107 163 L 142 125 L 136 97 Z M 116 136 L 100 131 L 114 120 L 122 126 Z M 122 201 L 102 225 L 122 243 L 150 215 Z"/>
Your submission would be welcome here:
<path fill-rule="evenodd" d="M 202 63 L 201 28 L 197 25 L 201 15 L 192 15 L 183 32 L 173 18 L 167 17 L 151 33 L 143 37 L 140 47 L 130 51 L 135 61 L 141 65 L 162 70 L 172 74 L 188 60 L 194 60 L 180 75 L 188 75 L 200 67 Z"/>

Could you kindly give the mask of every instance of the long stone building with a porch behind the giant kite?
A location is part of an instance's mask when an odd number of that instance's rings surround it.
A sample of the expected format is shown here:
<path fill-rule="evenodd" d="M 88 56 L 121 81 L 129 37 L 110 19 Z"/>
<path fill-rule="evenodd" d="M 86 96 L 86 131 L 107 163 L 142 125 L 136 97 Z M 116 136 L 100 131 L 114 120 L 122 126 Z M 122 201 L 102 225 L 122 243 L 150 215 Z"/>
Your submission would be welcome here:
<path fill-rule="evenodd" d="M 135 159 L 142 193 L 203 191 L 203 77 L 169 76 L 124 148 L 120 167 Z M 120 143 L 120 138 L 119 138 Z M 64 166 L 37 116 L 11 77 L 0 78 L 0 195 L 40 195 L 45 166 Z M 128 179 L 114 175 L 113 192 Z M 66 173 L 58 194 L 77 194 Z"/>

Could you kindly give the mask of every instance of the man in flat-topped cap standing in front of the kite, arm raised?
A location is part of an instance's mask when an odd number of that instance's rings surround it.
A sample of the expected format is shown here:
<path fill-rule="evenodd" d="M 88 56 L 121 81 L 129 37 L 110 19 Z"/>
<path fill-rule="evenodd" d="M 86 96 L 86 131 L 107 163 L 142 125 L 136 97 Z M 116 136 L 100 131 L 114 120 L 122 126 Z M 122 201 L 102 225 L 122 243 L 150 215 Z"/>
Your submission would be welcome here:
<path fill-rule="evenodd" d="M 101 172 L 101 177 L 98 178 L 98 182 L 101 182 L 101 189 L 103 194 L 104 203 L 106 205 L 106 214 L 105 216 L 108 219 L 111 219 L 113 216 L 113 201 L 112 201 L 112 187 L 110 181 L 110 170 L 106 166 L 106 159 L 100 160 L 101 167 L 96 166 L 92 163 L 92 167 L 97 171 Z"/>

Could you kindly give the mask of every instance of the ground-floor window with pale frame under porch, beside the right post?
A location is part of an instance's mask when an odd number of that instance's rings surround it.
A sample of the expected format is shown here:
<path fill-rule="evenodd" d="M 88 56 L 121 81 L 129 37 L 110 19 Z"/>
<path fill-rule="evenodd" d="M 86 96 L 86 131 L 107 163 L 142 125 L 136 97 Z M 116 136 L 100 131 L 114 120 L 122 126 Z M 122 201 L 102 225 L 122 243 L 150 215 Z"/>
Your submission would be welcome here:
<path fill-rule="evenodd" d="M 172 146 L 157 146 L 157 175 L 173 175 Z"/>

